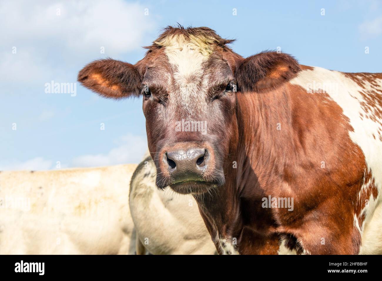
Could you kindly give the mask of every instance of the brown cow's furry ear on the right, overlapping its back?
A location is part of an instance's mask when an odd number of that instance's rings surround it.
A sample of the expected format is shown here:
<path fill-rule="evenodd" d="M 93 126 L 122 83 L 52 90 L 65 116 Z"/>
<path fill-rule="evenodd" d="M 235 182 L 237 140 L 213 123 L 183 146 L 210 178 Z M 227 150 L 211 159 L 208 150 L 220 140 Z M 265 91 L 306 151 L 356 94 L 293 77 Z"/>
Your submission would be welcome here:
<path fill-rule="evenodd" d="M 241 91 L 265 92 L 282 86 L 300 71 L 297 60 L 288 54 L 261 52 L 244 58 L 235 71 Z"/>

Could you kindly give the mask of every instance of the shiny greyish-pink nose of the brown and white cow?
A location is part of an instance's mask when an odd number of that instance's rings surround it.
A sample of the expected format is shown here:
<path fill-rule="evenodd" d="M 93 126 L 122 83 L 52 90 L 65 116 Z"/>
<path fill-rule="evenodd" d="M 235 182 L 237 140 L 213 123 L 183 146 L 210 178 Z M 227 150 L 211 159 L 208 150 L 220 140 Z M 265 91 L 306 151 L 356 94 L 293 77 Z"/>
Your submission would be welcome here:
<path fill-rule="evenodd" d="M 208 166 L 209 153 L 206 148 L 176 149 L 167 151 L 163 161 L 175 182 L 201 180 Z"/>

